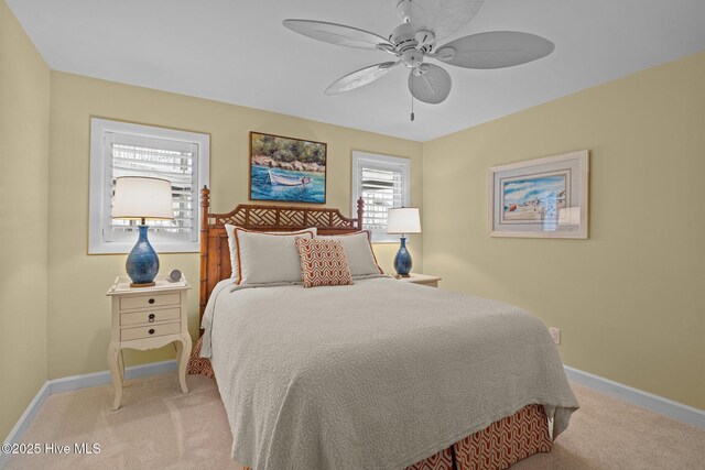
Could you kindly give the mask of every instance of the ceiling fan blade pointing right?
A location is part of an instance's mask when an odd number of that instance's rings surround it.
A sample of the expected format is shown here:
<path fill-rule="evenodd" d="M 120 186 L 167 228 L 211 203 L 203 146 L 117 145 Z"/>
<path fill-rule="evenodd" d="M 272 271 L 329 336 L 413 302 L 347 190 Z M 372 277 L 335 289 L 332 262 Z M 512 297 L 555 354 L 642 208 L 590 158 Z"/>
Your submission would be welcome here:
<path fill-rule="evenodd" d="M 502 68 L 551 54 L 555 45 L 541 36 L 516 31 L 471 34 L 438 46 L 431 57 L 465 68 Z"/>

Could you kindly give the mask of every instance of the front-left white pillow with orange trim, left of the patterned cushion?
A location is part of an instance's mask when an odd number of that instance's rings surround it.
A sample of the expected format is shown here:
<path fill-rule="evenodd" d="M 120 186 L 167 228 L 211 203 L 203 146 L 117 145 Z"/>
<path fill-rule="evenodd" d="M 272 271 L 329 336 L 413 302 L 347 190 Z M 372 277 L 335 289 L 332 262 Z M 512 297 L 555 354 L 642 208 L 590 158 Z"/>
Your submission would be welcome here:
<path fill-rule="evenodd" d="M 313 231 L 263 233 L 236 227 L 239 260 L 237 285 L 302 282 L 296 238 L 314 238 Z"/>

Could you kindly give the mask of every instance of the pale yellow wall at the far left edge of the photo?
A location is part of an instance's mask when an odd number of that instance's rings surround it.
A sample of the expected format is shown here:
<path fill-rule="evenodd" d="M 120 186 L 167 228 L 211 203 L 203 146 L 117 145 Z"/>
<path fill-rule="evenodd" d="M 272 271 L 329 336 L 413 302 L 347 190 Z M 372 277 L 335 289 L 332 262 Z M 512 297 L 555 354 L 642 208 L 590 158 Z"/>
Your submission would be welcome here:
<path fill-rule="evenodd" d="M 50 70 L 0 0 L 0 439 L 46 380 Z"/>

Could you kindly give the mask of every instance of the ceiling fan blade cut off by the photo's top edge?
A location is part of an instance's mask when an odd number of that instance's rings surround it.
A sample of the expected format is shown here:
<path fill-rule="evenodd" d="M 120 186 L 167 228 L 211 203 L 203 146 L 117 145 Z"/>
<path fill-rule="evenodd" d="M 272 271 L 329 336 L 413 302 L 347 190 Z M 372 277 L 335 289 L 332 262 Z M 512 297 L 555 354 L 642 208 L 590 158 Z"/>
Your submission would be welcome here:
<path fill-rule="evenodd" d="M 402 0 L 397 11 L 415 26 L 433 31 L 436 40 L 449 36 L 475 18 L 484 0 Z"/>

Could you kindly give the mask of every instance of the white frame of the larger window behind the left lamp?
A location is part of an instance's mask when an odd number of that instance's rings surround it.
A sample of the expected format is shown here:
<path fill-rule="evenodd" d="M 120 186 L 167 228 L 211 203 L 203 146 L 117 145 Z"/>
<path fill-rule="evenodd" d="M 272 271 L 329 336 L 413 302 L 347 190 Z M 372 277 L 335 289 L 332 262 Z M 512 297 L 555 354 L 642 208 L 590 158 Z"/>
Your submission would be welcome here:
<path fill-rule="evenodd" d="M 88 223 L 88 254 L 129 253 L 137 241 L 110 241 L 104 237 L 106 218 L 111 214 L 108 209 L 108 198 L 112 195 L 112 188 L 107 187 L 106 172 L 111 167 L 109 155 L 106 152 L 106 138 L 111 133 L 131 134 L 135 140 L 140 138 L 153 138 L 186 142 L 194 144 L 196 151 L 196 184 L 194 192 L 194 211 L 196 223 L 193 227 L 191 241 L 160 240 L 160 233 L 150 231 L 150 243 L 158 253 L 184 253 L 198 252 L 200 250 L 200 188 L 208 185 L 210 135 L 204 133 L 180 131 L 175 129 L 159 128 L 154 125 L 135 124 L 131 122 L 111 121 L 100 118 L 90 119 L 90 203 Z M 148 221 L 149 225 L 149 221 Z"/>

